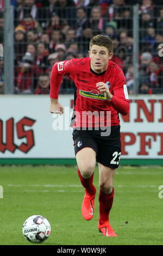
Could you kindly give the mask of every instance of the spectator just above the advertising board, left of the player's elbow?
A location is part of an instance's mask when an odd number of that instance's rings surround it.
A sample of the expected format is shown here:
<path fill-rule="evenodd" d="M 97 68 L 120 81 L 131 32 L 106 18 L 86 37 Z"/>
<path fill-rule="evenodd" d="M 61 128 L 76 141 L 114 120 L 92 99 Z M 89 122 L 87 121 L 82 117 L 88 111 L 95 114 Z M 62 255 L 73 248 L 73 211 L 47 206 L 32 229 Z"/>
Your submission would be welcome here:
<path fill-rule="evenodd" d="M 49 94 L 50 92 L 50 80 L 47 74 L 41 74 L 37 81 L 37 87 L 35 94 Z"/>

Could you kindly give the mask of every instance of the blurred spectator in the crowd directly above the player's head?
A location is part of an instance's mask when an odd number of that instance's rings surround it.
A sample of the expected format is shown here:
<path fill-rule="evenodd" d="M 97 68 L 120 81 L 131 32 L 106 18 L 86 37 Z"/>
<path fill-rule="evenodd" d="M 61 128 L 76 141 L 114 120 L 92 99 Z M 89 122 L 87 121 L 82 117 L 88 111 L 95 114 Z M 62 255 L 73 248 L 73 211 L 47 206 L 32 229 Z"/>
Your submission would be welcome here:
<path fill-rule="evenodd" d="M 105 22 L 102 17 L 102 10 L 99 6 L 93 7 L 91 10 L 90 27 L 95 33 L 103 32 L 105 29 Z"/>

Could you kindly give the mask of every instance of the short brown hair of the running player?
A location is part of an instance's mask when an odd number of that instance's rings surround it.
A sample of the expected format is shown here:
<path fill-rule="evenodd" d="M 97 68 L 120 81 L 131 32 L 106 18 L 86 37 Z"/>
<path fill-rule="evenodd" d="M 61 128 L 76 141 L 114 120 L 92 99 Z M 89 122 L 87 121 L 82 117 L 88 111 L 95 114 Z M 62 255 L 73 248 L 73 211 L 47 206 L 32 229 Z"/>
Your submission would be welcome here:
<path fill-rule="evenodd" d="M 112 41 L 108 35 L 95 35 L 90 41 L 90 50 L 92 45 L 105 46 L 109 53 L 112 52 Z"/>

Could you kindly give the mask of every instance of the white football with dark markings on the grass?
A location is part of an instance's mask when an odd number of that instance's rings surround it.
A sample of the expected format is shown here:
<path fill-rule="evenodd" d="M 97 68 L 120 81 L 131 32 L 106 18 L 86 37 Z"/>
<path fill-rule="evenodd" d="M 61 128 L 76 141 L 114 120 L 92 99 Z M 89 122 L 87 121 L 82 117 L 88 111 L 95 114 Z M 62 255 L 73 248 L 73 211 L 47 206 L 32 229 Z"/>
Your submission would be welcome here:
<path fill-rule="evenodd" d="M 22 231 L 29 242 L 41 243 L 51 234 L 51 225 L 45 217 L 33 215 L 23 223 Z"/>

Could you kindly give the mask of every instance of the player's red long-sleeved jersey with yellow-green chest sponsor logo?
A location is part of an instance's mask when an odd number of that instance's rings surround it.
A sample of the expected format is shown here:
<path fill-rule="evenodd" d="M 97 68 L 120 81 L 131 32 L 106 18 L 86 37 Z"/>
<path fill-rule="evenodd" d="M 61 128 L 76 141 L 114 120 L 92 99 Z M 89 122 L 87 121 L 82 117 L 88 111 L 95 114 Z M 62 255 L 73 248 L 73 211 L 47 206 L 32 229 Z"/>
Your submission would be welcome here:
<path fill-rule="evenodd" d="M 116 126 L 120 124 L 118 113 L 123 115 L 129 112 L 129 99 L 126 87 L 126 78 L 120 67 L 109 60 L 108 68 L 101 74 L 97 74 L 90 67 L 90 58 L 71 59 L 55 63 L 51 74 L 51 93 L 52 99 L 58 99 L 59 86 L 62 76 L 69 76 L 76 84 L 76 101 L 74 110 L 76 111 L 76 120 L 74 126 L 77 127 L 96 127 L 97 119 L 93 117 L 93 123 L 90 118 L 85 119 L 85 114 L 95 113 L 100 116 L 104 113 L 104 126 Z M 99 92 L 96 83 L 104 82 L 108 85 L 110 93 L 113 95 L 109 101 Z M 80 114 L 79 115 L 77 114 Z M 108 124 L 106 113 L 111 114 L 111 124 Z M 83 120 L 81 121 L 81 116 Z M 91 114 L 90 114 L 91 115 Z M 79 120 L 80 118 L 80 120 Z M 96 120 L 95 120 L 96 119 Z"/>

